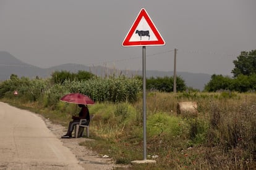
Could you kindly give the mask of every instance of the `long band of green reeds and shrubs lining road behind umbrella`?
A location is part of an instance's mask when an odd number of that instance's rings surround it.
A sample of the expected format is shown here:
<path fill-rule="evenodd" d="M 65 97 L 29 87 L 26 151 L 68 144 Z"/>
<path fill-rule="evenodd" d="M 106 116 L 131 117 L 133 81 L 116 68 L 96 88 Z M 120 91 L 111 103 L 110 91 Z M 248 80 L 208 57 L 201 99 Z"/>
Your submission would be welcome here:
<path fill-rule="evenodd" d="M 40 102 L 45 107 L 56 108 L 59 99 L 71 92 L 80 92 L 95 102 L 136 102 L 141 92 L 142 82 L 135 78 L 119 76 L 117 78 L 90 78 L 88 80 L 63 80 L 61 84 L 52 84 L 50 79 L 28 79 L 11 76 L 0 83 L 0 97 Z M 13 95 L 17 91 L 19 95 Z"/>

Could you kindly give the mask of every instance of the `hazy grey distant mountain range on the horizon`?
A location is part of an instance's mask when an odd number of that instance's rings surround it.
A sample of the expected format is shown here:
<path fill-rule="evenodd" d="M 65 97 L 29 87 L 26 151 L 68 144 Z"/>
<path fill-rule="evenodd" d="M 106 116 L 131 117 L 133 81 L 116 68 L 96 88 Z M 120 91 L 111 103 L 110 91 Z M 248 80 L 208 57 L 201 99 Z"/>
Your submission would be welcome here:
<path fill-rule="evenodd" d="M 35 78 L 36 76 L 40 78 L 49 78 L 51 73 L 54 71 L 70 71 L 72 73 L 77 73 L 79 70 L 90 71 L 98 76 L 106 75 L 142 75 L 142 71 L 134 70 L 116 70 L 114 68 L 107 67 L 87 67 L 85 65 L 79 65 L 75 63 L 67 63 L 63 65 L 58 65 L 50 68 L 40 68 L 33 65 L 29 65 L 16 59 L 13 55 L 5 51 L 0 51 L 0 81 L 9 79 L 9 76 L 12 74 L 19 77 L 25 76 L 28 78 Z M 173 76 L 173 71 L 156 71 L 156 70 L 147 70 L 147 77 L 164 77 L 164 76 Z M 180 76 L 184 79 L 188 87 L 193 87 L 194 89 L 203 90 L 205 84 L 210 81 L 211 75 L 204 73 L 188 73 L 188 72 L 177 72 L 177 76 Z"/>

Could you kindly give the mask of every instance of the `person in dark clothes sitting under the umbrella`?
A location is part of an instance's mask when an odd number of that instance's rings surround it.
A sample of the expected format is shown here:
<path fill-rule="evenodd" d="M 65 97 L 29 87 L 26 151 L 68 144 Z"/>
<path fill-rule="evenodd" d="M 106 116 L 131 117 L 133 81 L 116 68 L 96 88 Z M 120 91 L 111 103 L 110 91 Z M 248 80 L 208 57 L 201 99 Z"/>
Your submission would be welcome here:
<path fill-rule="evenodd" d="M 86 123 L 82 122 L 82 124 L 89 125 L 90 113 L 89 113 L 87 105 L 79 104 L 79 107 L 81 108 L 81 110 L 79 112 L 79 116 L 72 116 L 73 121 L 69 122 L 69 128 L 67 129 L 67 134 L 62 136 L 61 138 L 71 138 L 72 131 L 74 130 L 74 126 L 76 124 L 79 124 L 80 119 L 87 119 Z"/>

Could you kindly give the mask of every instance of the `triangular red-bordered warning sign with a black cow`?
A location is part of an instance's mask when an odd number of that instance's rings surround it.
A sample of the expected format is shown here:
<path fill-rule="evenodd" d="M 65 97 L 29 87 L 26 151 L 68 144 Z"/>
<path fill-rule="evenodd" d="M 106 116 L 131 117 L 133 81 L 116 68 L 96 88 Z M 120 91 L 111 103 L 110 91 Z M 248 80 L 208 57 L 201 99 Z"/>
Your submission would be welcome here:
<path fill-rule="evenodd" d="M 122 46 L 164 46 L 165 42 L 145 9 L 130 28 Z"/>

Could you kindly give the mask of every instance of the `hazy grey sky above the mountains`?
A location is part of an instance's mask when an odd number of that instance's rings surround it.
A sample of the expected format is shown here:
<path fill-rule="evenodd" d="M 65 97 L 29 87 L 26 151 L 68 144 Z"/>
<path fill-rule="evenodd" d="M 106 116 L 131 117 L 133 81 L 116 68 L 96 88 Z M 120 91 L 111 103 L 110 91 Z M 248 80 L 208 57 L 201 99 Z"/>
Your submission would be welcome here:
<path fill-rule="evenodd" d="M 145 8 L 166 42 L 147 70 L 231 75 L 256 49 L 255 0 L 0 0 L 0 51 L 41 68 L 63 63 L 142 70 L 142 47 L 122 47 Z M 1 63 L 1 61 L 0 61 Z"/>

